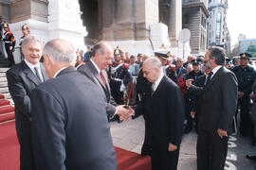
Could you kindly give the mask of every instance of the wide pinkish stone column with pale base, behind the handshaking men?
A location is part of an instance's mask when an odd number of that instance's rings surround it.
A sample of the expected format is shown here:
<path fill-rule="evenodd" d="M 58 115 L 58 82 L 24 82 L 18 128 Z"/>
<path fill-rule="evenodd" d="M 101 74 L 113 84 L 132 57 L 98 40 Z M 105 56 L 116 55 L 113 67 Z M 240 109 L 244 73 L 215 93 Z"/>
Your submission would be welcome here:
<path fill-rule="evenodd" d="M 158 0 L 101 0 L 102 40 L 131 54 L 152 52 L 150 25 L 158 23 Z M 104 11 L 108 11 L 104 13 Z"/>

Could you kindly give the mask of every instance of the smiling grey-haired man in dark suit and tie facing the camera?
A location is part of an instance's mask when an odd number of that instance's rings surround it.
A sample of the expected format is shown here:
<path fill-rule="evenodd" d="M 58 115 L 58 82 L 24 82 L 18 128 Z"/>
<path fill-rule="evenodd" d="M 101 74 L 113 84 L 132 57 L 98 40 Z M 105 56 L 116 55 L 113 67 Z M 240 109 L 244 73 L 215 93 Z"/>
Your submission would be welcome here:
<path fill-rule="evenodd" d="M 9 93 L 15 104 L 16 132 L 20 143 L 20 169 L 34 170 L 29 94 L 37 85 L 47 79 L 44 64 L 39 62 L 42 56 L 43 42 L 36 37 L 29 36 L 24 39 L 22 51 L 25 59 L 9 69 L 7 79 Z"/>

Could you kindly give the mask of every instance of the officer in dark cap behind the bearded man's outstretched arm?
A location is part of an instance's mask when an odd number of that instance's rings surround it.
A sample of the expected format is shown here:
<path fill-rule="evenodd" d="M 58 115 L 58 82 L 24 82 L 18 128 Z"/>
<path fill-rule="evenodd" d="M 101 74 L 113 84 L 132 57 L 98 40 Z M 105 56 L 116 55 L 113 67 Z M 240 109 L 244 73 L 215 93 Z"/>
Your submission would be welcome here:
<path fill-rule="evenodd" d="M 205 75 L 201 70 L 201 61 L 199 59 L 192 59 L 192 71 L 186 76 L 187 79 L 193 79 L 192 84 L 196 85 L 197 78 L 199 76 Z M 189 133 L 192 131 L 192 100 L 195 99 L 195 95 L 192 93 L 187 93 L 185 96 L 185 107 L 186 107 L 186 119 L 187 125 L 185 127 L 184 133 Z"/>

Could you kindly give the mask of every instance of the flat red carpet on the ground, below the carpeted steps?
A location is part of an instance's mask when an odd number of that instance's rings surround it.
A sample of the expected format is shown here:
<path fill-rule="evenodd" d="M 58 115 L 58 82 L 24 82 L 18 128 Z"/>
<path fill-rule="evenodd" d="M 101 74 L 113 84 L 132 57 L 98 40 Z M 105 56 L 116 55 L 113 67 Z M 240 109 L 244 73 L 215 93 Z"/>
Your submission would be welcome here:
<path fill-rule="evenodd" d="M 150 170 L 149 157 L 115 147 L 118 170 Z M 19 144 L 16 137 L 15 122 L 0 125 L 0 170 L 19 169 Z"/>

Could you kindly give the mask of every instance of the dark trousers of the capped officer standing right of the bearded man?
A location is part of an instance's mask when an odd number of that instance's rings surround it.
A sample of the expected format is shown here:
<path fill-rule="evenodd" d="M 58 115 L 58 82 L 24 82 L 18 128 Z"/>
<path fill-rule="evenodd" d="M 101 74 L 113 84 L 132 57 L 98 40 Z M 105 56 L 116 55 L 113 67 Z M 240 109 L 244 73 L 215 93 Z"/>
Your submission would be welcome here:
<path fill-rule="evenodd" d="M 243 136 L 249 136 L 253 134 L 253 126 L 250 121 L 249 115 L 249 97 L 247 95 L 243 96 L 238 100 L 238 108 L 241 110 L 241 120 L 240 120 L 240 133 Z"/>

